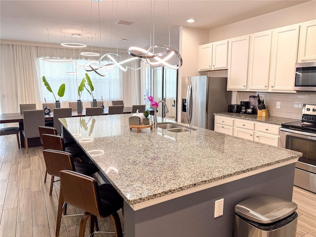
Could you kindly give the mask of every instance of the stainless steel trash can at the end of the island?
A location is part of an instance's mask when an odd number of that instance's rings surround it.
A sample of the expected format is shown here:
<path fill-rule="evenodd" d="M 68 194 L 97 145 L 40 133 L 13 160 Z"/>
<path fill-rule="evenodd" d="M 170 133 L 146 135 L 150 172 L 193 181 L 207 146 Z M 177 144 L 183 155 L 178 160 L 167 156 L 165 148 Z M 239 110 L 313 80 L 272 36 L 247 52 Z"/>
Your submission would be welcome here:
<path fill-rule="evenodd" d="M 235 206 L 234 237 L 295 237 L 297 205 L 272 195 L 261 195 Z"/>

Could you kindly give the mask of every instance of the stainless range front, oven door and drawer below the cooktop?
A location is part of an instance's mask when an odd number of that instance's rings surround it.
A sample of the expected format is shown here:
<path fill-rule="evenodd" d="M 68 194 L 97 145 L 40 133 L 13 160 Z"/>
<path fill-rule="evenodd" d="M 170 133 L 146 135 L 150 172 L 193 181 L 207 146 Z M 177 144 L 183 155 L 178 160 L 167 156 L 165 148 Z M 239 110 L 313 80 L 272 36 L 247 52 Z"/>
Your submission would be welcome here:
<path fill-rule="evenodd" d="M 294 185 L 316 193 L 316 134 L 281 127 L 279 147 L 303 153 L 295 164 Z"/>

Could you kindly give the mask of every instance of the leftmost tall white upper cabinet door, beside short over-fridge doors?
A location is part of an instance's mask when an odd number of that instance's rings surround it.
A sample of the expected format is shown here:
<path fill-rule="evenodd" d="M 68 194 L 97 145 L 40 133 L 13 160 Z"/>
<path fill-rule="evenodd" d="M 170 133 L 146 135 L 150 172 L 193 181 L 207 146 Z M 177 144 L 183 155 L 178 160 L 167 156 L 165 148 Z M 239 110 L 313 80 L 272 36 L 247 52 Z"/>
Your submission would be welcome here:
<path fill-rule="evenodd" d="M 229 40 L 227 90 L 245 90 L 247 85 L 249 36 Z"/>

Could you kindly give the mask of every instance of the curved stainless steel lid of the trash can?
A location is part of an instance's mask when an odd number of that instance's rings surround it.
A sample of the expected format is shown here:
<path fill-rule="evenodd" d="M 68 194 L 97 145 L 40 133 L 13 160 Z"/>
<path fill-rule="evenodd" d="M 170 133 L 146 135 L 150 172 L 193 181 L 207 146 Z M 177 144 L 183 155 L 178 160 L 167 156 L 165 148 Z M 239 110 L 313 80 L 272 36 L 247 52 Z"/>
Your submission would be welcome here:
<path fill-rule="evenodd" d="M 281 220 L 296 209 L 295 202 L 272 195 L 250 197 L 235 206 L 238 215 L 263 224 Z"/>

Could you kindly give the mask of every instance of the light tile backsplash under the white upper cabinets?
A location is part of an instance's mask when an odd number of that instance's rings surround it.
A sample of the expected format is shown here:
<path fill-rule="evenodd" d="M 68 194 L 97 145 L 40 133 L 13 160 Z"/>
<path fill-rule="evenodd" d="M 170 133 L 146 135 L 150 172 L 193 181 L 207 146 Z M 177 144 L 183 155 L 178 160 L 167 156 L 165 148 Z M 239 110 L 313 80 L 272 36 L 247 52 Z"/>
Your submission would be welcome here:
<path fill-rule="evenodd" d="M 237 92 L 237 103 L 239 101 L 249 101 L 250 95 L 257 95 L 256 92 Z M 271 93 L 259 92 L 261 100 L 265 100 L 269 116 L 282 118 L 302 118 L 303 104 L 316 104 L 316 92 L 298 91 L 297 93 Z M 281 107 L 276 109 L 276 102 L 281 102 Z"/>

